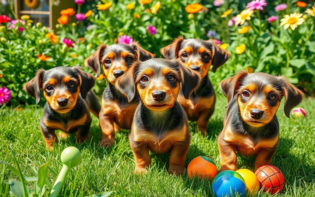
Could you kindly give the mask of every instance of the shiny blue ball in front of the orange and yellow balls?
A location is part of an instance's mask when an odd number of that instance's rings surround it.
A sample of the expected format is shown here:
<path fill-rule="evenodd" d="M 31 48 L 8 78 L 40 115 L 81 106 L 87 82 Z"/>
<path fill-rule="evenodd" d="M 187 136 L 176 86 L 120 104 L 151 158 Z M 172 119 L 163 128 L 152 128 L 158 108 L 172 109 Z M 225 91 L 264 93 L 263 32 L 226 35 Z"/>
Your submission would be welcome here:
<path fill-rule="evenodd" d="M 243 197 L 246 192 L 245 180 L 232 170 L 220 172 L 212 181 L 211 190 L 215 197 L 236 196 Z M 231 194 L 232 191 L 232 194 Z"/>

